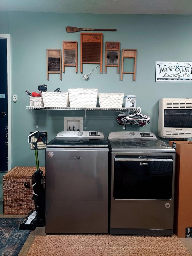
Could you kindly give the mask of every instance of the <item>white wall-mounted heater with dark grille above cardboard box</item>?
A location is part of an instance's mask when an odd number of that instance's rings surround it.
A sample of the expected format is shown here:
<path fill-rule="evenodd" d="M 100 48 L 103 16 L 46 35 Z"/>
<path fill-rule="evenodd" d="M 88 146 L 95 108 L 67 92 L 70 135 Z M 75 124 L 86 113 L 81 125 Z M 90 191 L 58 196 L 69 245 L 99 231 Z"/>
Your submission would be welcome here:
<path fill-rule="evenodd" d="M 192 99 L 159 100 L 158 136 L 192 137 Z"/>

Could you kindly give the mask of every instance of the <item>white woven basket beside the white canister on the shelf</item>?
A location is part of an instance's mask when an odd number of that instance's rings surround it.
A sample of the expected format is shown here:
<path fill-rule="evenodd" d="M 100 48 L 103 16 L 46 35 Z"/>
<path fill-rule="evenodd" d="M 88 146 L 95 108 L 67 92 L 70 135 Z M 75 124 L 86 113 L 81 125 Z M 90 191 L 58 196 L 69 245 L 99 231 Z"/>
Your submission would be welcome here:
<path fill-rule="evenodd" d="M 99 107 L 122 107 L 124 93 L 98 93 Z"/>

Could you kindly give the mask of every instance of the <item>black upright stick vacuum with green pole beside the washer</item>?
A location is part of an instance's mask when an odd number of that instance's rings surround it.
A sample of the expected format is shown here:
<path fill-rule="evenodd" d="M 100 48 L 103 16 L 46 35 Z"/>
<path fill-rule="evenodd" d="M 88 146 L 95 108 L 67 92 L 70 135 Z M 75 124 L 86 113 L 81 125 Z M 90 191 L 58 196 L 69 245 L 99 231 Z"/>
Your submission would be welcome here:
<path fill-rule="evenodd" d="M 36 141 L 32 142 L 32 137 Z M 45 189 L 43 186 L 43 171 L 39 169 L 38 149 L 37 143 L 39 140 L 39 131 L 33 132 L 28 136 L 28 142 L 35 146 L 35 158 L 37 170 L 32 175 L 33 198 L 35 203 L 35 211 L 28 213 L 26 218 L 22 221 L 19 229 L 34 230 L 36 227 L 45 226 Z"/>

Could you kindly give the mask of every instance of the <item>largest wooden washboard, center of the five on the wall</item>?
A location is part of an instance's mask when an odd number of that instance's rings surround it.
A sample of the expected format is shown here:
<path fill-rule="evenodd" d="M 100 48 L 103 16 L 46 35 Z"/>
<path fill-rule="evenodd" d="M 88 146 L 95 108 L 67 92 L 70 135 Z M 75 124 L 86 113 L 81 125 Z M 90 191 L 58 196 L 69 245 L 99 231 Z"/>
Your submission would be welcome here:
<path fill-rule="evenodd" d="M 83 64 L 100 64 L 102 73 L 103 33 L 81 33 L 81 73 Z"/>

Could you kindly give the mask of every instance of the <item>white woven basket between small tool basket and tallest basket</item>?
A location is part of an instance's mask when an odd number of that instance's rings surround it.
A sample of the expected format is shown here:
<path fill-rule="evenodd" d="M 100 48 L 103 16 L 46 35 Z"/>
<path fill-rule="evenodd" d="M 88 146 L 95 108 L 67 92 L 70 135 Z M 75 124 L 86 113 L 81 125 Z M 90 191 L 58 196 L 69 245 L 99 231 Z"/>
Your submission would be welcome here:
<path fill-rule="evenodd" d="M 44 107 L 69 107 L 68 92 L 41 92 Z"/>

